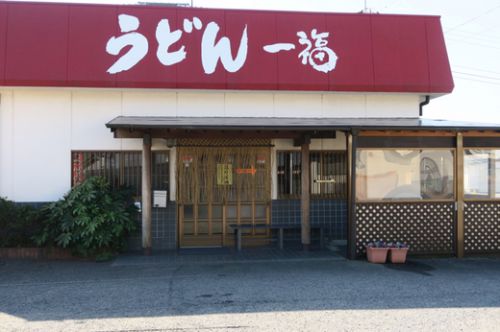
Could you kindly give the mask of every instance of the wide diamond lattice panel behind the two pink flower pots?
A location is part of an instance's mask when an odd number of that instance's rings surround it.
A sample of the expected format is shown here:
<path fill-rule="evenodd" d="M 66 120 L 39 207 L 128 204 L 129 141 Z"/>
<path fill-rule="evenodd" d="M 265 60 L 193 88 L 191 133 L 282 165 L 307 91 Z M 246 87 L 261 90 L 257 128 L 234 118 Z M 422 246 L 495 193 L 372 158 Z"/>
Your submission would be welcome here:
<path fill-rule="evenodd" d="M 453 254 L 453 203 L 365 203 L 356 205 L 356 254 L 368 242 L 406 242 L 413 254 Z"/>

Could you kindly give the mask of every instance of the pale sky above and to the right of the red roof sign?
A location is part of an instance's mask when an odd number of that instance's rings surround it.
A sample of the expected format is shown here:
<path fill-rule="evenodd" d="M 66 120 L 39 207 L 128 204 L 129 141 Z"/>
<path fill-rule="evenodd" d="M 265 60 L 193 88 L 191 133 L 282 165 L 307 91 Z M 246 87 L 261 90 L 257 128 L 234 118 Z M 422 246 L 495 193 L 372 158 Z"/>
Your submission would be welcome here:
<path fill-rule="evenodd" d="M 130 0 L 62 2 L 137 3 Z M 365 6 L 365 0 L 146 0 L 144 2 L 180 2 L 209 8 L 319 12 L 359 12 Z M 378 13 L 441 16 L 455 90 L 450 95 L 433 99 L 424 109 L 424 117 L 500 123 L 500 1 L 366 0 L 366 5 L 369 10 Z"/>

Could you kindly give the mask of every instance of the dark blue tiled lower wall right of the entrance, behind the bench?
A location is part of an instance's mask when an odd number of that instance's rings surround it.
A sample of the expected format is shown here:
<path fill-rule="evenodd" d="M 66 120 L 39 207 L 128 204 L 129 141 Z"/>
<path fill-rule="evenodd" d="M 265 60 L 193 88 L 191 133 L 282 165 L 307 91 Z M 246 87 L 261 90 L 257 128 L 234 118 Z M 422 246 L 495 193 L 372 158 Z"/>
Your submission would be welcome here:
<path fill-rule="evenodd" d="M 300 224 L 300 200 L 273 200 L 272 223 Z M 344 200 L 311 200 L 311 225 L 325 225 L 329 240 L 347 239 L 347 202 Z"/>

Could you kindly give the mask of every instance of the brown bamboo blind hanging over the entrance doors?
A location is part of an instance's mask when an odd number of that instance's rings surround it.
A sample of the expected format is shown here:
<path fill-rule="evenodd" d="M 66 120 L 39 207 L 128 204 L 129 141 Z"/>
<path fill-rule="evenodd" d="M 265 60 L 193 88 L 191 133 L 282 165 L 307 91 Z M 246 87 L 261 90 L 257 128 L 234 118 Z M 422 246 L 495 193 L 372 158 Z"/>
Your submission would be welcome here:
<path fill-rule="evenodd" d="M 227 204 L 270 200 L 270 147 L 214 143 L 210 147 L 177 148 L 178 202 Z"/>

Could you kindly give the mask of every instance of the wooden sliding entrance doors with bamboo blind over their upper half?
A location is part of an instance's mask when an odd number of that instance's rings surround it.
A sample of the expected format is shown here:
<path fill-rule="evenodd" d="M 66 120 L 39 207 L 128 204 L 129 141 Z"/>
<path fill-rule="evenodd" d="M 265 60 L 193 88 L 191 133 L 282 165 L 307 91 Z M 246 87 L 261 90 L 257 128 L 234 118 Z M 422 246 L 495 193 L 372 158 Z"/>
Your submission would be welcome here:
<path fill-rule="evenodd" d="M 194 246 L 219 247 L 229 246 L 233 242 L 231 224 L 254 225 L 248 228 L 253 237 L 253 244 L 267 243 L 270 224 L 271 207 L 271 141 L 259 140 L 178 140 L 177 142 L 177 208 L 178 208 L 178 244 L 180 248 Z M 190 167 L 184 167 L 182 156 L 190 156 Z M 200 163 L 203 156 L 204 163 Z M 262 156 L 264 162 L 257 162 Z M 231 183 L 218 184 L 216 174 L 218 164 L 231 164 L 233 180 Z M 245 168 L 251 167 L 251 168 Z M 252 173 L 252 170 L 254 173 Z M 233 173 L 234 171 L 234 173 Z M 199 183 L 200 174 L 205 174 Z M 246 175 L 245 175 L 246 174 Z M 251 175 L 250 175 L 251 174 Z M 261 185 L 257 186 L 259 182 Z M 232 194 L 231 194 L 232 193 Z M 203 198 L 201 198 L 203 197 Z M 185 234 L 184 207 L 193 207 L 193 216 L 187 221 L 194 224 L 192 234 Z M 197 225 L 200 222 L 198 209 L 205 206 L 207 217 L 202 219 L 208 223 L 207 231 L 199 234 Z M 218 206 L 221 214 L 214 218 L 213 207 Z M 242 213 L 250 211 L 250 215 Z M 234 209 L 234 216 L 228 217 L 229 209 Z M 250 210 L 248 210 L 250 208 Z M 264 208 L 264 213 L 258 215 L 257 208 Z M 262 210 L 261 210 L 262 211 Z M 221 231 L 212 232 L 213 222 L 220 223 Z M 264 230 L 262 233 L 261 230 Z"/>

